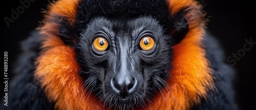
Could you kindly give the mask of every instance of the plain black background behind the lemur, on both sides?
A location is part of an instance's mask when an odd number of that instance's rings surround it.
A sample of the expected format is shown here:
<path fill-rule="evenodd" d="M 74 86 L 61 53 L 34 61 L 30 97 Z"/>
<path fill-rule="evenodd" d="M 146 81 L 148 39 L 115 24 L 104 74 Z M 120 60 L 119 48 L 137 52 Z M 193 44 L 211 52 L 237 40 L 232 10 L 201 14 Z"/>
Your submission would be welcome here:
<path fill-rule="evenodd" d="M 23 0 L 24 1 L 24 0 Z M 252 3 L 244 3 L 242 1 L 207 1 L 200 0 L 205 11 L 210 16 L 208 30 L 216 36 L 225 50 L 225 59 L 243 49 L 245 39 L 255 37 L 255 13 L 250 6 Z M 21 6 L 19 1 L 5 1 L 2 4 L 2 30 L 1 34 L 4 40 L 4 51 L 8 52 L 9 61 L 9 78 L 12 78 L 12 68 L 15 67 L 17 55 L 19 54 L 19 42 L 29 36 L 29 33 L 39 25 L 42 20 L 42 11 L 46 9 L 49 2 L 35 1 L 30 7 L 25 9 L 24 13 L 19 14 L 14 23 L 10 23 L 7 27 L 4 16 L 11 18 L 11 9 L 16 10 Z M 256 94 L 256 66 L 255 66 L 255 50 L 256 45 L 250 51 L 246 51 L 245 56 L 233 66 L 237 70 L 235 89 L 237 91 L 237 102 L 240 109 L 252 109 L 255 105 Z M 231 63 L 228 63 L 231 64 Z M 4 88 L 4 87 L 1 87 Z M 3 89 L 4 90 L 4 89 Z M 1 93 L 3 94 L 3 90 Z"/>

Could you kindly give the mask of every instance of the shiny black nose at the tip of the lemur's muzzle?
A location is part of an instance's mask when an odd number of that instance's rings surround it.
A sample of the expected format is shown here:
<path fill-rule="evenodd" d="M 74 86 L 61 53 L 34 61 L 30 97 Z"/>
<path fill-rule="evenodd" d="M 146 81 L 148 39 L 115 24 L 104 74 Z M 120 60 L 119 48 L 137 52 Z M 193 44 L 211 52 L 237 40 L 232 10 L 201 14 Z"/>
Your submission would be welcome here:
<path fill-rule="evenodd" d="M 119 94 L 123 99 L 129 94 L 132 94 L 136 90 L 138 82 L 135 77 L 114 77 L 111 80 L 111 88 L 116 93 Z"/>

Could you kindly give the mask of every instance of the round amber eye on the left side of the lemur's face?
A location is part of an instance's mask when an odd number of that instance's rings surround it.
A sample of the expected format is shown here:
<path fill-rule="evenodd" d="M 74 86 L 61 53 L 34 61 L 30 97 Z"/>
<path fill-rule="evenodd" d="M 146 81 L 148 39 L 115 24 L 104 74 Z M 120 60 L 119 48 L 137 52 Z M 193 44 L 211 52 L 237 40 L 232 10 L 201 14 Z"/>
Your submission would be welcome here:
<path fill-rule="evenodd" d="M 106 48 L 108 48 L 108 46 L 109 46 L 109 43 L 104 37 L 97 37 L 93 41 L 93 47 L 97 51 L 100 51 L 100 52 L 105 51 Z"/>

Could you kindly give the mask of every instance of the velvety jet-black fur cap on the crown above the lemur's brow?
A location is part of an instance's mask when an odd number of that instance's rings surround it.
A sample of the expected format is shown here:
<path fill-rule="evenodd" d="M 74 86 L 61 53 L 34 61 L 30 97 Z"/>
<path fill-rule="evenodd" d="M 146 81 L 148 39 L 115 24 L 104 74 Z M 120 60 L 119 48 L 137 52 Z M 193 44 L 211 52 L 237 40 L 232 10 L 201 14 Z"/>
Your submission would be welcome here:
<path fill-rule="evenodd" d="M 157 10 L 156 10 L 157 9 Z M 77 13 L 78 32 L 87 27 L 87 24 L 95 17 L 106 17 L 108 19 L 133 19 L 139 16 L 152 16 L 161 25 L 169 23 L 169 11 L 165 1 L 81 1 Z M 168 29 L 167 27 L 164 27 Z"/>

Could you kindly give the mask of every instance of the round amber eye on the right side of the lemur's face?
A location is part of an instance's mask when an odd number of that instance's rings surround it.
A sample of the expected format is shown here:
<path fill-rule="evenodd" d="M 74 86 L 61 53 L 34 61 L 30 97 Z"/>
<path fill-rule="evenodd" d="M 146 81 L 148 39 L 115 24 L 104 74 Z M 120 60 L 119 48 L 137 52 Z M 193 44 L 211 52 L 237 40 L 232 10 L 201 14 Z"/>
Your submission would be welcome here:
<path fill-rule="evenodd" d="M 150 36 L 145 36 L 140 40 L 140 48 L 144 51 L 150 51 L 154 48 L 155 41 Z"/>

